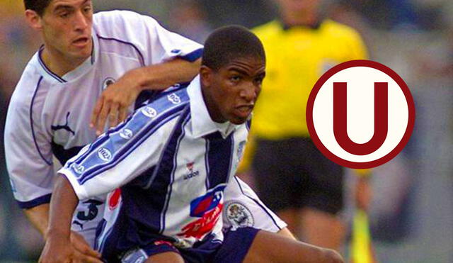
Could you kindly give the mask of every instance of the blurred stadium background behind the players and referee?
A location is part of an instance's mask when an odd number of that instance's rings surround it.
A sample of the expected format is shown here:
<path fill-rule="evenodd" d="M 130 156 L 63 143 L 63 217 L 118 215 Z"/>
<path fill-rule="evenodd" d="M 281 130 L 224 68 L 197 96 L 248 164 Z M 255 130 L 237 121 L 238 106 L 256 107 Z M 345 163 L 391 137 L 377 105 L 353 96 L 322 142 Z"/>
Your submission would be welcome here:
<path fill-rule="evenodd" d="M 372 60 L 400 74 L 416 106 L 398 157 L 374 171 L 371 229 L 379 262 L 453 262 L 453 1 L 332 0 L 326 14 L 360 31 Z M 131 9 L 202 42 L 213 28 L 249 28 L 277 15 L 273 0 L 93 0 Z M 0 135 L 8 100 L 40 38 L 23 1 L 0 0 Z M 335 43 L 332 43 L 335 45 Z M 21 127 L 18 127 L 21 128 Z M 0 262 L 35 262 L 42 240 L 13 200 L 0 143 Z M 354 177 L 349 177 L 354 181 Z M 348 184 L 349 186 L 352 185 Z M 348 187 L 349 189 L 350 187 Z M 345 191 L 350 192 L 350 190 Z M 344 212 L 350 220 L 350 209 Z M 347 250 L 345 250 L 347 253 Z"/>

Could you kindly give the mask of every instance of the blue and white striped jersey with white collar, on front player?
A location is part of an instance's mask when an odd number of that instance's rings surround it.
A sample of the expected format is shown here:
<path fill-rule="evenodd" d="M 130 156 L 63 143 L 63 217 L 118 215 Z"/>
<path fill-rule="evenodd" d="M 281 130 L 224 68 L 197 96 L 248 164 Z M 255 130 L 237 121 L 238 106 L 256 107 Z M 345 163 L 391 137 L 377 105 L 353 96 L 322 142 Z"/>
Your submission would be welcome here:
<path fill-rule="evenodd" d="M 163 237 L 191 247 L 222 242 L 224 191 L 234 180 L 246 123 L 215 123 L 200 78 L 164 94 L 81 150 L 59 173 L 79 199 L 110 194 L 98 237 L 101 251 L 125 251 Z"/>

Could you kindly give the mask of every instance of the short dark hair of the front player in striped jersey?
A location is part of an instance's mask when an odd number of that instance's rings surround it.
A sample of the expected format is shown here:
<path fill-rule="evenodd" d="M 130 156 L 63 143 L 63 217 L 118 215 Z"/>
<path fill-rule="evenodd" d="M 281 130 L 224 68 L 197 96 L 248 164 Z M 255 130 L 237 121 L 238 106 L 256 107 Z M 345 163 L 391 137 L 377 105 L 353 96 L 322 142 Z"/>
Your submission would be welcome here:
<path fill-rule="evenodd" d="M 202 65 L 217 71 L 236 57 L 258 57 L 265 62 L 263 44 L 243 26 L 224 26 L 205 41 Z"/>

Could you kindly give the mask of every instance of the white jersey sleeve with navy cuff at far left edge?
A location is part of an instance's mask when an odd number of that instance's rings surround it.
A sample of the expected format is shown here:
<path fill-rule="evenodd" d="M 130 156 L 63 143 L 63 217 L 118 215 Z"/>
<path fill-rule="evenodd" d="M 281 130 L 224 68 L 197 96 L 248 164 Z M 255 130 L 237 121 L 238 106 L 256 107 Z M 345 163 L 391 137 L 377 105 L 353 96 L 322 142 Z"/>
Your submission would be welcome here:
<path fill-rule="evenodd" d="M 39 82 L 30 86 L 36 90 L 22 94 L 16 87 L 4 133 L 6 167 L 21 208 L 49 203 L 55 178 L 50 134 L 40 120 Z"/>

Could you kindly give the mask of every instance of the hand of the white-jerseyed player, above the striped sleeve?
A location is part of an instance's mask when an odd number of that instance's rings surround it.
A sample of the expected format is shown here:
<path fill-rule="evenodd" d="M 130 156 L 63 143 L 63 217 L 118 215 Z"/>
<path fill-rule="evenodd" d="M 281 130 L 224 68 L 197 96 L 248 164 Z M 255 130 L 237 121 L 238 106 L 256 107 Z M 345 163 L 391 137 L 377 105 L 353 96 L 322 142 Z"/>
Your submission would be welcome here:
<path fill-rule="evenodd" d="M 103 133 L 107 119 L 109 127 L 126 119 L 129 106 L 142 91 L 138 81 L 140 75 L 139 71 L 131 70 L 103 91 L 91 115 L 90 126 L 96 128 L 97 135 Z"/>

